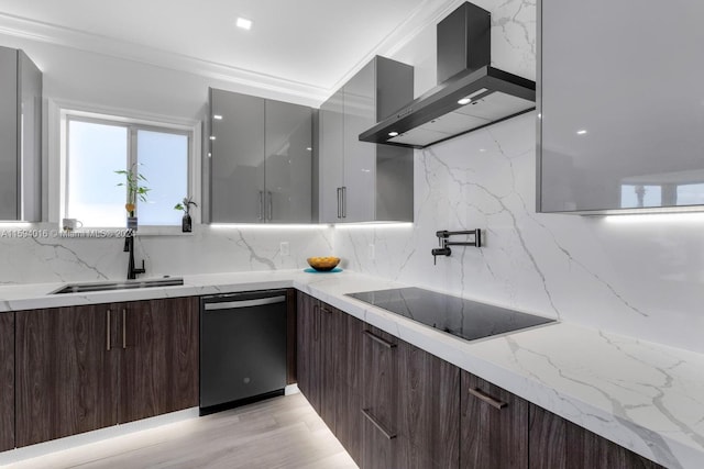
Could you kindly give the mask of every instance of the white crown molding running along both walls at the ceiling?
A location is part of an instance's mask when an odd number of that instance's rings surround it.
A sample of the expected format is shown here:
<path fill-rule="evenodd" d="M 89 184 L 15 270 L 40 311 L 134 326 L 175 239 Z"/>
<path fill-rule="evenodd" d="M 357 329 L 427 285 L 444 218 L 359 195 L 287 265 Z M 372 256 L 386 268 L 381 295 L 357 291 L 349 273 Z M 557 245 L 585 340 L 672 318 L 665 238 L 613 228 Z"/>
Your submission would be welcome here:
<path fill-rule="evenodd" d="M 375 55 L 393 55 L 425 27 L 438 22 L 463 0 L 425 0 L 414 9 L 406 20 L 386 35 L 369 54 L 362 57 L 348 74 L 331 88 L 287 80 L 231 65 L 205 60 L 198 57 L 177 54 L 143 44 L 119 41 L 100 34 L 35 21 L 0 12 L 0 34 L 26 41 L 42 42 L 77 51 L 106 55 L 114 58 L 138 62 L 151 66 L 179 70 L 197 76 L 244 85 L 271 92 L 293 94 L 319 105 L 337 89 L 345 83 Z"/>

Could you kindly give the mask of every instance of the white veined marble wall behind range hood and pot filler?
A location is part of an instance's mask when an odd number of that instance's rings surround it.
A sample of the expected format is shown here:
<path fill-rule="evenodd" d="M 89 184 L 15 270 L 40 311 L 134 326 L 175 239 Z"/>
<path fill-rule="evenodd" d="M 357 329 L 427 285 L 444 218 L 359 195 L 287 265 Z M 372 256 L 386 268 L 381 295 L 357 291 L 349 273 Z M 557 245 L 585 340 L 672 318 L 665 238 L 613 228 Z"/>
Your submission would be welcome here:
<path fill-rule="evenodd" d="M 535 78 L 535 4 L 477 3 L 493 13 L 494 65 Z M 394 58 L 418 60 L 417 85 L 432 87 L 435 30 Z M 354 270 L 704 351 L 704 215 L 535 213 L 535 120 L 417 150 L 415 225 L 337 227 L 338 255 Z M 472 228 L 485 247 L 453 247 L 433 266 L 436 231 Z"/>

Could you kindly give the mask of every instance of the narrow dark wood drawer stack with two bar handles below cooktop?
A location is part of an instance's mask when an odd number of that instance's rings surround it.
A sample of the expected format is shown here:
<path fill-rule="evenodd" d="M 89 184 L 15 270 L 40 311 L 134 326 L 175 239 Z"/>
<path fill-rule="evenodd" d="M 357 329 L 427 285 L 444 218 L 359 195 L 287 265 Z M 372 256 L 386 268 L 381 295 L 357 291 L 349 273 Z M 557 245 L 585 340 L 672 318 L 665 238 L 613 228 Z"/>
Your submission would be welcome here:
<path fill-rule="evenodd" d="M 362 467 L 395 468 L 398 456 L 398 339 L 364 326 Z"/>

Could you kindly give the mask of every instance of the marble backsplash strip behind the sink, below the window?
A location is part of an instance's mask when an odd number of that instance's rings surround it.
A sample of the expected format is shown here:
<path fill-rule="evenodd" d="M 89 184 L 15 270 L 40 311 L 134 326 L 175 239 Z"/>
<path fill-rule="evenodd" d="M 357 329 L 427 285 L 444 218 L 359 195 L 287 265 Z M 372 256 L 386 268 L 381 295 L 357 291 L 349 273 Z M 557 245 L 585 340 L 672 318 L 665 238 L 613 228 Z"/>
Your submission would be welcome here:
<path fill-rule="evenodd" d="M 0 225 L 0 284 L 124 279 L 124 238 L 61 238 L 56 225 Z M 48 234 L 47 234 L 48 233 Z M 26 237 L 19 237 L 18 234 Z M 280 244 L 288 243 L 288 255 Z M 138 236 L 144 277 L 305 268 L 332 252 L 328 225 L 194 226 L 193 235 Z"/>

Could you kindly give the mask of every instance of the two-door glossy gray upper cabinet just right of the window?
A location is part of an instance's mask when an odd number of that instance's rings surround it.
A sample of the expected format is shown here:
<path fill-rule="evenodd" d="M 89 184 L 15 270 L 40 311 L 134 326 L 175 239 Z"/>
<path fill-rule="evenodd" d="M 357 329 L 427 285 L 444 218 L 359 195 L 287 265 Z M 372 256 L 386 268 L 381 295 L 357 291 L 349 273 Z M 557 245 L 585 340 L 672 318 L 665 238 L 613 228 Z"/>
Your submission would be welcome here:
<path fill-rule="evenodd" d="M 309 223 L 312 109 L 210 89 L 210 221 Z"/>

